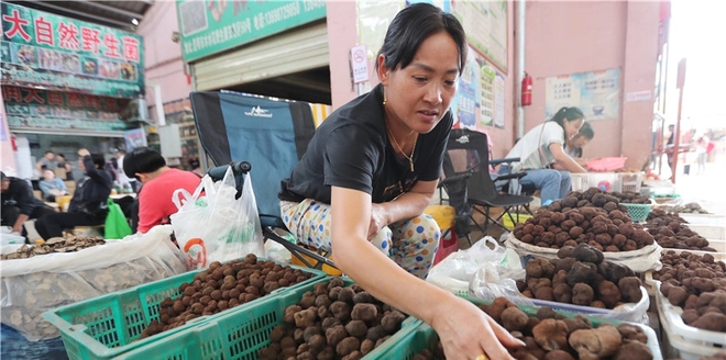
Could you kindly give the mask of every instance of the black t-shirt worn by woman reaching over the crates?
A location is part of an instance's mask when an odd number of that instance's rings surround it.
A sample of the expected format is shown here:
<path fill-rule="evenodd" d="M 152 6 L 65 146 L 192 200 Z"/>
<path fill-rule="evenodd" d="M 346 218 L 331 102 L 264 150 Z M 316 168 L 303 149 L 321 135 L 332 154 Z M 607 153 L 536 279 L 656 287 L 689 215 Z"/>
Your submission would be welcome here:
<path fill-rule="evenodd" d="M 439 179 L 451 113 L 428 134 L 419 134 L 411 172 L 408 159 L 396 155 L 388 142 L 382 103 L 383 87 L 377 86 L 330 114 L 290 178 L 283 180 L 279 199 L 330 204 L 331 187 L 340 187 L 364 191 L 374 203 L 383 203 L 409 191 L 418 180 Z"/>

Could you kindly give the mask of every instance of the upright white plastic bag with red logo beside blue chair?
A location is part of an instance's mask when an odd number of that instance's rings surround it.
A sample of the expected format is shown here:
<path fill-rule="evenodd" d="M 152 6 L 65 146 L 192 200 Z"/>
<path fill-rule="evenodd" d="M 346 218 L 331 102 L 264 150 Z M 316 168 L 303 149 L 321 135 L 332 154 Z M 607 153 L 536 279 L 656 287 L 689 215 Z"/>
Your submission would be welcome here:
<path fill-rule="evenodd" d="M 184 189 L 174 193 L 173 201 L 178 212 L 170 216 L 172 226 L 180 249 L 186 254 L 189 270 L 248 254 L 264 255 L 262 226 L 250 173 L 245 175 L 242 195 L 234 199 L 235 194 L 231 168 L 227 169 L 221 181 L 215 182 L 205 176 L 194 194 Z M 179 196 L 184 199 L 179 200 Z"/>

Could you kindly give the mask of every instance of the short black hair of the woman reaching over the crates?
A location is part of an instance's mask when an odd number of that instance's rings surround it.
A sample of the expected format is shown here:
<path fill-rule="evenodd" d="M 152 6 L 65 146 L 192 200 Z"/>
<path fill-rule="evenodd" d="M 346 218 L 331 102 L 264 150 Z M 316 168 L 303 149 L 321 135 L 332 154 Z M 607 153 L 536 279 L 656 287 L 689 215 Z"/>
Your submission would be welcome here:
<path fill-rule="evenodd" d="M 443 12 L 429 3 L 415 3 L 399 11 L 388 25 L 380 55 L 385 55 L 385 66 L 389 70 L 407 67 L 425 40 L 446 31 L 459 47 L 459 72 L 466 64 L 466 35 L 464 27 L 454 15 Z M 377 56 L 376 56 L 377 57 Z M 375 63 L 376 70 L 378 63 Z"/>

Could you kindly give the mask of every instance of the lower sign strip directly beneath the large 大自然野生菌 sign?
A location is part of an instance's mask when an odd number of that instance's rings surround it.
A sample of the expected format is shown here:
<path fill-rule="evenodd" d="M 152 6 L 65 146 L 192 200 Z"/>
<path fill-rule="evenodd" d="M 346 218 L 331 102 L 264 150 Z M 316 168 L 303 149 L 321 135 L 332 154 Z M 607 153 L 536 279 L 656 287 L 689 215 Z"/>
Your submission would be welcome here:
<path fill-rule="evenodd" d="M 77 92 L 2 86 L 11 128 L 120 131 L 119 111 L 129 100 Z"/>

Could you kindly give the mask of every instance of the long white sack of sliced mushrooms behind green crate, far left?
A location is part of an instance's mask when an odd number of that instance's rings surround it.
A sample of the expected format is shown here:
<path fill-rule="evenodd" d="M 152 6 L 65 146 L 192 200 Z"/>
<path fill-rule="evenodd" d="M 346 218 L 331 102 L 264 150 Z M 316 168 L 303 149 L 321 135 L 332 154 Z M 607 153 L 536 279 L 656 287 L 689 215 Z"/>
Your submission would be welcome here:
<path fill-rule="evenodd" d="M 170 225 L 155 226 L 75 252 L 0 261 L 2 324 L 31 341 L 56 338 L 44 312 L 185 272 L 170 235 Z"/>

